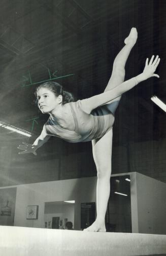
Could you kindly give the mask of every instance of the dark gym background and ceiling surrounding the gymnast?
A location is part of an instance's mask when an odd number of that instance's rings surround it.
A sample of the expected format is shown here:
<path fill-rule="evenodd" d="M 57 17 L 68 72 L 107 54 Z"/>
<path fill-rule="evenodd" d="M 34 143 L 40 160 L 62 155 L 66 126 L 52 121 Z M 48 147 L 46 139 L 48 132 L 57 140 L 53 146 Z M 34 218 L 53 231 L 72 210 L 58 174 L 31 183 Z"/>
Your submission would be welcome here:
<path fill-rule="evenodd" d="M 17 146 L 34 142 L 48 118 L 35 105 L 34 92 L 49 79 L 49 71 L 76 99 L 103 92 L 132 27 L 138 30 L 138 42 L 126 64 L 125 80 L 142 72 L 152 54 L 161 58 L 160 79 L 149 79 L 122 96 L 113 130 L 113 173 L 138 171 L 131 151 L 138 155 L 146 147 L 149 174 L 161 177 L 152 168 L 154 158 L 157 170 L 161 154 L 165 158 L 165 113 L 150 98 L 157 95 L 166 102 L 165 11 L 164 0 L 1 1 L 0 121 L 32 137 L 0 127 L 0 186 L 96 175 L 90 142 L 72 144 L 52 137 L 38 149 L 38 156 L 18 155 Z"/>

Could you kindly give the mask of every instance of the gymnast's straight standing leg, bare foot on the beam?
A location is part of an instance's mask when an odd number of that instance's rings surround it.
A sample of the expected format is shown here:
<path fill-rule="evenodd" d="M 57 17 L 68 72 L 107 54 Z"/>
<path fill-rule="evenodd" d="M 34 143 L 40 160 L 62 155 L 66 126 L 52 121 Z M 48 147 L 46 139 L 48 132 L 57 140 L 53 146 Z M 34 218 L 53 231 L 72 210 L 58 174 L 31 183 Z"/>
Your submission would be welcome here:
<path fill-rule="evenodd" d="M 94 223 L 84 231 L 106 232 L 105 215 L 110 196 L 112 129 L 102 138 L 92 141 L 93 158 L 97 169 L 96 210 Z"/>

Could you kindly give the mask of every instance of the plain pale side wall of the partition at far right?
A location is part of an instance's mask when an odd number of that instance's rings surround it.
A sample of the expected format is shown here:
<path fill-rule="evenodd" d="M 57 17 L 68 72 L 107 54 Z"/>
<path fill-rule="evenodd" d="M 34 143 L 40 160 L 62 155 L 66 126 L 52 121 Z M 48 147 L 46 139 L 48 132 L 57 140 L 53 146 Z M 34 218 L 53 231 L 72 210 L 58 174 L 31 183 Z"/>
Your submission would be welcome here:
<path fill-rule="evenodd" d="M 136 173 L 139 233 L 166 234 L 166 184 Z"/>

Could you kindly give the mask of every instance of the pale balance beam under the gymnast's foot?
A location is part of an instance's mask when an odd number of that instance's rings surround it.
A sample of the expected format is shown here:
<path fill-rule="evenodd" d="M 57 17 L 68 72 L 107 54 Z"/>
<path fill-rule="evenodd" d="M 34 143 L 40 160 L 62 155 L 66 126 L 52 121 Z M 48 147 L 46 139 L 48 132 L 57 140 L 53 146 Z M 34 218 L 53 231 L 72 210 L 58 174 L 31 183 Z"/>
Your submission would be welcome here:
<path fill-rule="evenodd" d="M 166 235 L 0 226 L 2 256 L 166 255 Z"/>

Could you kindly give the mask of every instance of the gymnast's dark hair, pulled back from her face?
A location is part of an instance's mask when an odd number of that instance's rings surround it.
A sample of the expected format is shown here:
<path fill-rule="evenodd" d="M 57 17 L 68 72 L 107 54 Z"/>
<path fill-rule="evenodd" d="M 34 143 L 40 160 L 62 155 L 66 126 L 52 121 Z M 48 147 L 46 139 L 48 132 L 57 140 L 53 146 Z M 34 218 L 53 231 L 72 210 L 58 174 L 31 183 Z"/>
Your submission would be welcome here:
<path fill-rule="evenodd" d="M 70 92 L 64 91 L 63 87 L 60 84 L 55 83 L 55 82 L 46 82 L 46 83 L 38 86 L 36 89 L 36 92 L 35 92 L 36 98 L 37 98 L 38 91 L 41 88 L 46 88 L 46 89 L 50 90 L 51 92 L 53 92 L 55 94 L 55 96 L 62 95 L 62 104 L 66 104 L 66 103 L 74 101 L 73 94 Z"/>

